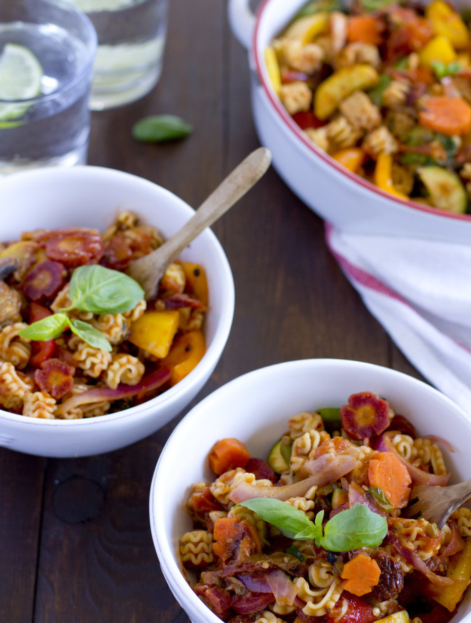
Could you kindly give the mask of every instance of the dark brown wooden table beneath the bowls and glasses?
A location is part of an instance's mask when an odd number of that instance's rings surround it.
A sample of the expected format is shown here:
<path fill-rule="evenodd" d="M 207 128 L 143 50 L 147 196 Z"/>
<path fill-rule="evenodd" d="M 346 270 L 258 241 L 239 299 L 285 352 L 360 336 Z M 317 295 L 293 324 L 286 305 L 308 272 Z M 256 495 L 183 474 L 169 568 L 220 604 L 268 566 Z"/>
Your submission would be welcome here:
<path fill-rule="evenodd" d="M 159 84 L 139 102 L 94 113 L 89 164 L 137 174 L 196 207 L 259 143 L 247 53 L 225 3 L 170 5 Z M 133 123 L 163 113 L 188 120 L 193 134 L 136 143 Z M 195 402 L 249 370 L 292 359 L 357 359 L 420 378 L 341 273 L 321 219 L 274 170 L 213 231 L 231 263 L 236 312 Z M 89 458 L 0 449 L 1 623 L 188 623 L 161 574 L 148 514 L 152 473 L 179 417 L 148 439 Z"/>

